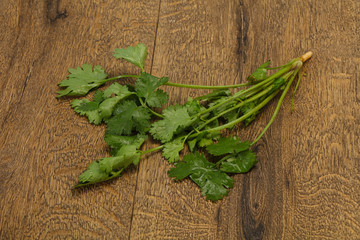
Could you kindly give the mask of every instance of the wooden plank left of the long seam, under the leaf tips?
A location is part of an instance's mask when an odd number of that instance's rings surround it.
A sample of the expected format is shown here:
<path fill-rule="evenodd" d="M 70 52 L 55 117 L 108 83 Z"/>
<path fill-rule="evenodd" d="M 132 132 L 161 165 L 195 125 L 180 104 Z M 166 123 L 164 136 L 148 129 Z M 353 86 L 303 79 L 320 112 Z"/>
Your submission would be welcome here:
<path fill-rule="evenodd" d="M 111 52 L 155 37 L 156 1 L 1 1 L 0 238 L 126 239 L 136 169 L 120 181 L 71 191 L 108 156 L 104 129 L 55 99 L 67 68 L 134 72 Z M 3 24 L 4 23 L 4 24 Z M 151 54 L 149 64 L 151 62 Z"/>

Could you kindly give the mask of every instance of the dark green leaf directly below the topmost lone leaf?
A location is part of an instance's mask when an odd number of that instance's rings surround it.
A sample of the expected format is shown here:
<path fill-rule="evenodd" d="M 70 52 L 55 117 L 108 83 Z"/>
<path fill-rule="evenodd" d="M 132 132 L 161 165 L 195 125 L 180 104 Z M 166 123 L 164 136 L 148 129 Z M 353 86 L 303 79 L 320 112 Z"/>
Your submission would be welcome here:
<path fill-rule="evenodd" d="M 143 72 L 135 83 L 136 93 L 139 97 L 145 98 L 150 107 L 161 107 L 167 103 L 169 96 L 163 90 L 156 89 L 168 81 L 166 77 L 159 79 Z"/>

